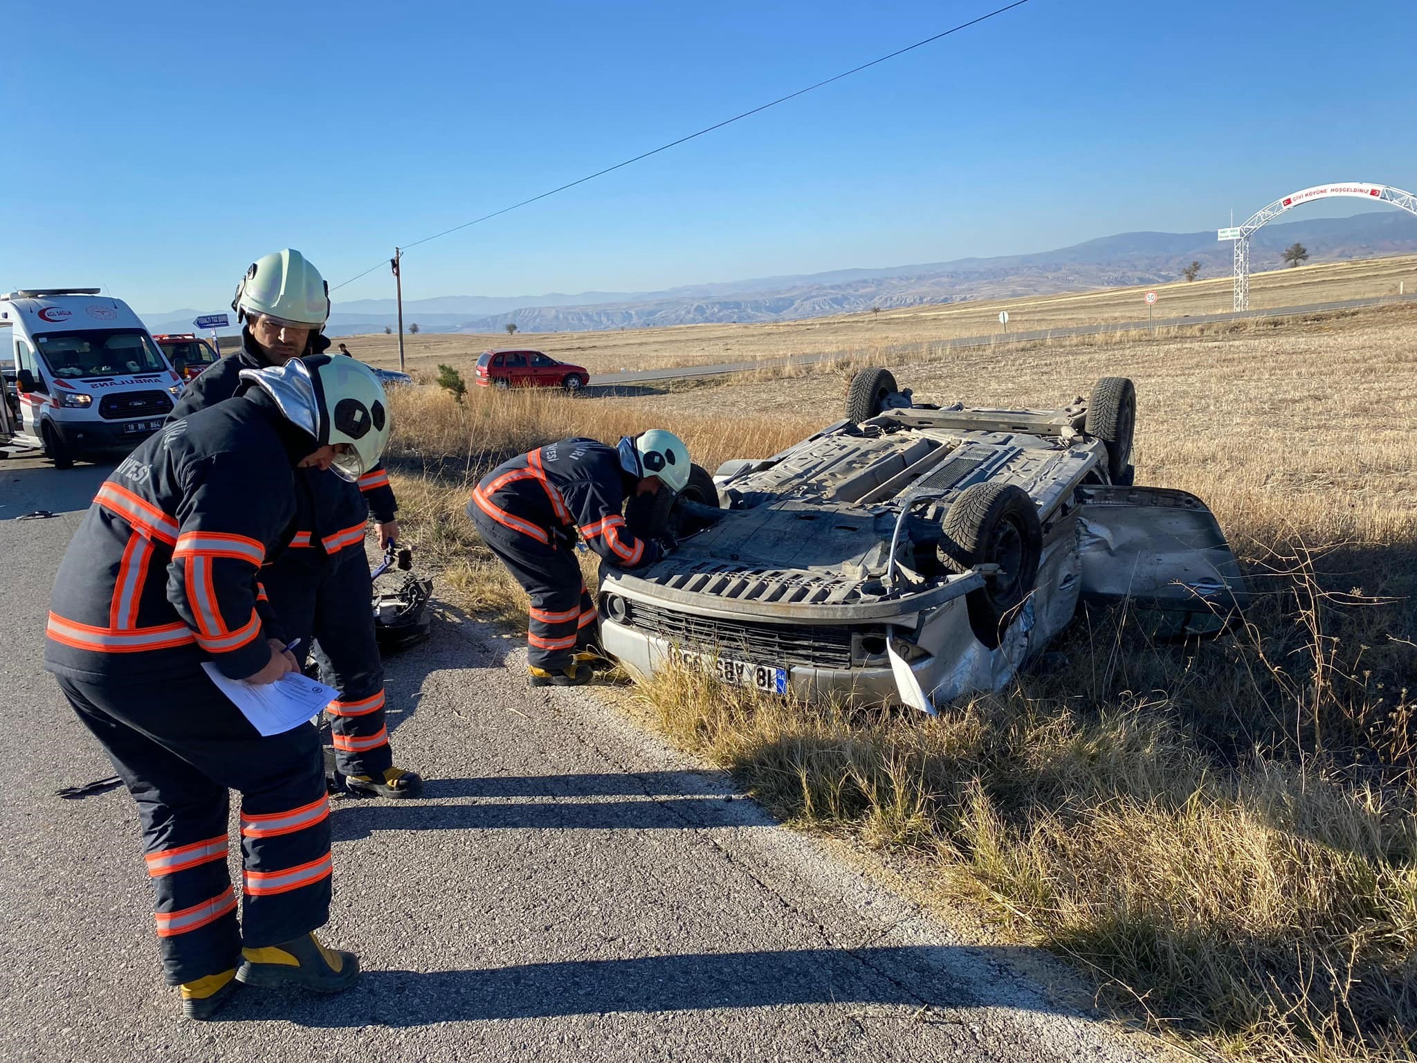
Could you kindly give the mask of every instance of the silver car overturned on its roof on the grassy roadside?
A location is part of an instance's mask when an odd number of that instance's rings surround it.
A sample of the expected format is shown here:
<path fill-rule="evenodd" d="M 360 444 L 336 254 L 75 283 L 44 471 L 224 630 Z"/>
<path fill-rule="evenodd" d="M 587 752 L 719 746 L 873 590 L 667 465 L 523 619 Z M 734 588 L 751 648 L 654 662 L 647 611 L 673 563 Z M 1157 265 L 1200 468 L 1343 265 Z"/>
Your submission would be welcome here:
<path fill-rule="evenodd" d="M 1238 564 L 1193 495 L 1134 486 L 1131 380 L 1058 410 L 914 401 L 880 369 L 847 417 L 764 459 L 696 469 L 680 549 L 604 570 L 604 649 L 650 676 L 852 702 L 999 689 L 1080 602 L 1128 602 L 1165 635 L 1223 631 Z"/>

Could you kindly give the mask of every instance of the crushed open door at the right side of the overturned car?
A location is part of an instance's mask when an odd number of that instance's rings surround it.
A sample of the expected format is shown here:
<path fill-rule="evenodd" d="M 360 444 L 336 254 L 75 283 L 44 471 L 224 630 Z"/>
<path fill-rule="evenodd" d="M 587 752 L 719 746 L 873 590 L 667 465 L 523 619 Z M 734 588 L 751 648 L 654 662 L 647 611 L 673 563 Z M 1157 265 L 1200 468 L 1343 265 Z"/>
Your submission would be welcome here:
<path fill-rule="evenodd" d="M 1083 601 L 1128 604 L 1155 635 L 1213 635 L 1248 605 L 1214 514 L 1165 488 L 1078 488 Z"/>

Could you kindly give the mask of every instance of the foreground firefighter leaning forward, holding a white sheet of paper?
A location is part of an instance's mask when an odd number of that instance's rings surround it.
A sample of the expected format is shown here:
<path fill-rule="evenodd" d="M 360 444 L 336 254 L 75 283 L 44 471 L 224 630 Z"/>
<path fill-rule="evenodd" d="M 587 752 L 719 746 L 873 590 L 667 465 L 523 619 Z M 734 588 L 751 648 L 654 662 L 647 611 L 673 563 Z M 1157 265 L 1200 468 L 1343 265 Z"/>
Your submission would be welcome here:
<path fill-rule="evenodd" d="M 183 1013 L 238 984 L 347 988 L 315 937 L 330 907 L 319 731 L 261 736 L 203 670 L 272 683 L 296 662 L 258 574 L 288 546 L 295 469 L 373 468 L 384 393 L 351 359 L 245 370 L 245 390 L 167 425 L 99 488 L 60 564 L 44 666 L 137 802 L 157 937 Z M 227 874 L 241 792 L 241 920 Z"/>

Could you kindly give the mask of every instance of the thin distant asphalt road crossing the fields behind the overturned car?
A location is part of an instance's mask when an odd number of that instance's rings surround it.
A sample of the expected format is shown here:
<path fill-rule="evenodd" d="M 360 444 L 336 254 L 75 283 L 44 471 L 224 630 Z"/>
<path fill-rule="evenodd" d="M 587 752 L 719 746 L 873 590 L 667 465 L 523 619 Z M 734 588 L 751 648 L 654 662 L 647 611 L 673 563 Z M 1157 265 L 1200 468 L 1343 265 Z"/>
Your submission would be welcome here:
<path fill-rule="evenodd" d="M 1166 327 L 1170 325 L 1203 325 L 1206 322 L 1233 322 L 1248 317 L 1289 317 L 1299 313 L 1319 313 L 1322 310 L 1348 310 L 1362 306 L 1384 306 L 1387 303 L 1403 303 L 1417 300 L 1417 295 L 1384 295 L 1372 299 L 1345 299 L 1328 303 L 1309 303 L 1306 306 L 1275 306 L 1265 310 L 1240 310 L 1230 313 L 1197 313 L 1189 317 L 1158 317 L 1153 322 L 1145 319 L 1135 322 L 1114 322 L 1111 325 L 1078 325 L 1071 329 L 1033 329 L 1024 332 L 999 332 L 990 336 L 956 336 L 954 339 L 927 340 L 937 351 L 965 350 L 969 347 L 992 347 L 1002 343 L 1033 343 L 1037 340 L 1053 340 L 1064 336 L 1098 336 L 1108 332 L 1134 332 L 1136 329 Z M 896 353 L 910 353 L 920 349 L 918 343 L 896 344 L 886 347 L 886 361 Z M 785 366 L 812 366 L 819 361 L 832 361 L 846 357 L 847 350 L 819 351 L 815 354 L 792 354 L 781 359 L 760 359 L 758 361 L 731 361 L 718 366 L 680 366 L 677 369 L 643 369 L 632 373 L 606 373 L 591 378 L 591 387 L 612 387 L 615 384 L 643 384 L 656 380 L 690 380 L 693 377 L 721 377 L 730 373 L 748 373 L 762 369 L 779 369 Z"/>

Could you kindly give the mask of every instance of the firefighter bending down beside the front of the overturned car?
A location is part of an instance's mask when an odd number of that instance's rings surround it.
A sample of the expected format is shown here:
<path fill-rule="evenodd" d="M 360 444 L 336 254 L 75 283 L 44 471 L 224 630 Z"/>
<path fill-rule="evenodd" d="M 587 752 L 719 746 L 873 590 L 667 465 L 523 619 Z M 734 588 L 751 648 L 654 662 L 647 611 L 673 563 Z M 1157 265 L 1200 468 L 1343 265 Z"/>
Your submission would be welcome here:
<path fill-rule="evenodd" d="M 563 439 L 497 466 L 468 503 L 478 533 L 531 598 L 531 686 L 580 686 L 598 659 L 595 604 L 575 560 L 575 537 L 616 568 L 642 568 L 672 546 L 626 526 L 625 503 L 689 483 L 689 449 L 655 428 L 618 446 Z"/>

